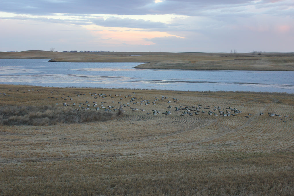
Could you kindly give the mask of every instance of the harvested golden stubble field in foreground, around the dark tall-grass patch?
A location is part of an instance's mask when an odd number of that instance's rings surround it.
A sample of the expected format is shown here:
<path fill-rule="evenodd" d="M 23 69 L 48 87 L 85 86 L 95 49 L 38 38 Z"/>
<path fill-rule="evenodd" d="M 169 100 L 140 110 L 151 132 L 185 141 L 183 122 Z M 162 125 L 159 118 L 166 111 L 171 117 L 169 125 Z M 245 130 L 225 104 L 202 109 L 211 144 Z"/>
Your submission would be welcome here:
<path fill-rule="evenodd" d="M 293 94 L 16 85 L 0 85 L 0 93 L 1 106 L 81 110 L 79 103 L 87 100 L 96 101 L 100 110 L 101 102 L 107 102 L 103 105 L 113 108 L 104 113 L 115 113 L 121 104 L 130 105 L 105 122 L 2 125 L 0 195 L 294 194 Z M 154 99 L 159 99 L 156 105 Z M 142 100 L 150 104 L 141 105 Z M 187 110 L 174 108 L 193 110 L 197 104 L 205 114 L 181 116 Z M 208 105 L 242 113 L 223 116 L 216 110 L 218 116 L 208 115 L 203 109 Z M 96 109 L 91 105 L 88 110 Z M 162 114 L 167 110 L 171 114 Z M 252 115 L 246 118 L 248 113 Z"/>

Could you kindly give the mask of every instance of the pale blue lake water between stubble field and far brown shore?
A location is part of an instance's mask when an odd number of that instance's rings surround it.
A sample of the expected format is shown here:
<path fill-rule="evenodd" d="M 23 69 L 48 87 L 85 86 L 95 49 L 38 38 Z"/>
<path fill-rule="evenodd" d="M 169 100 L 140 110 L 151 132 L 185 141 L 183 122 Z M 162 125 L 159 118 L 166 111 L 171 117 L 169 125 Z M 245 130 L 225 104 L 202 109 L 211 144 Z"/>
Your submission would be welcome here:
<path fill-rule="evenodd" d="M 142 63 L 57 63 L 0 59 L 0 83 L 54 87 L 294 93 L 293 71 L 135 69 Z"/>

